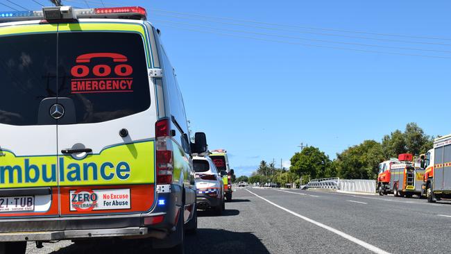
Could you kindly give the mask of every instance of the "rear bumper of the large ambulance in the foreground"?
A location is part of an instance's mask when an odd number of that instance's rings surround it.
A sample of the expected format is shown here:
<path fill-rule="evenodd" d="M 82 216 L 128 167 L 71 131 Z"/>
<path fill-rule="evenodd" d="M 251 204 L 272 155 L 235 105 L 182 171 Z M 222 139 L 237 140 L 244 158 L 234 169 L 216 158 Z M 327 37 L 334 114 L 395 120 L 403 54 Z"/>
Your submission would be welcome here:
<path fill-rule="evenodd" d="M 148 217 L 150 214 L 146 214 Z M 151 214 L 152 217 L 166 215 Z M 169 230 L 144 226 L 142 214 L 102 217 L 8 219 L 0 221 L 0 242 L 51 241 L 89 239 L 96 237 L 155 237 L 164 238 Z"/>

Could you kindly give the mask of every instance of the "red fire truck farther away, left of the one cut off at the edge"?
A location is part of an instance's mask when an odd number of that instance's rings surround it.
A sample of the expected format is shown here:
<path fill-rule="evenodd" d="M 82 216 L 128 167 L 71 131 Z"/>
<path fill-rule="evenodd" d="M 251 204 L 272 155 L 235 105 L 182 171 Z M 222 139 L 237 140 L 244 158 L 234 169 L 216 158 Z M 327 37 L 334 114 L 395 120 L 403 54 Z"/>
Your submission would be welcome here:
<path fill-rule="evenodd" d="M 398 159 L 391 158 L 379 164 L 377 190 L 380 195 L 393 193 L 395 196 L 421 196 L 425 170 L 415 167 L 412 155 L 402 153 Z"/>

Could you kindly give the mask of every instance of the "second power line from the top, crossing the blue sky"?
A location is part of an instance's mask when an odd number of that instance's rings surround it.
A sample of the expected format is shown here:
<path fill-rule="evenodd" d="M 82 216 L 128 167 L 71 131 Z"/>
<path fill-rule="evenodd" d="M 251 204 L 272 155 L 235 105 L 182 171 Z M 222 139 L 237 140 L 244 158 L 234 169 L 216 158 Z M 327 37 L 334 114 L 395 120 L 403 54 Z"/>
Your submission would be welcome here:
<path fill-rule="evenodd" d="M 338 34 L 333 34 L 333 33 L 318 33 L 318 32 L 299 31 L 299 30 L 293 30 L 293 29 L 287 29 L 287 28 L 276 28 L 276 27 L 269 27 L 269 26 L 255 26 L 255 25 L 250 25 L 250 24 L 221 22 L 221 21 L 217 21 L 217 20 L 199 19 L 199 18 L 195 18 L 195 17 L 182 17 L 182 16 L 167 15 L 167 14 L 160 14 L 160 13 L 155 13 L 155 15 L 160 15 L 163 17 L 175 17 L 176 19 L 194 19 L 194 20 L 203 21 L 203 22 L 213 22 L 213 23 L 217 23 L 217 24 L 227 24 L 227 25 L 232 25 L 232 26 L 247 26 L 247 27 L 252 27 L 252 28 L 262 28 L 262 29 L 273 30 L 273 31 L 307 33 L 307 34 L 312 34 L 312 35 L 324 35 L 324 36 L 332 36 L 332 37 L 348 37 L 348 38 L 364 39 L 364 40 L 378 40 L 378 41 L 382 41 L 382 42 L 403 42 L 403 43 L 411 43 L 411 44 L 430 44 L 430 45 L 451 46 L 451 44 L 440 43 L 440 42 L 418 42 L 418 41 L 395 40 L 395 39 L 364 37 L 364 36 L 355 36 L 355 35 L 338 35 Z"/>

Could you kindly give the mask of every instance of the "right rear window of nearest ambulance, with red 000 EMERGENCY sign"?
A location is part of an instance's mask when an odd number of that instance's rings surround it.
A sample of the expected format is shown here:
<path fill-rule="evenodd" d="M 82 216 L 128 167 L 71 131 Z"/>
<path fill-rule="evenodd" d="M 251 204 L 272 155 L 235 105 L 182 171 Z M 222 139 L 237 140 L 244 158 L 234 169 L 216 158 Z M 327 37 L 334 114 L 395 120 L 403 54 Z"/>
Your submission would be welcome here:
<path fill-rule="evenodd" d="M 76 122 L 109 121 L 151 105 L 146 53 L 137 33 L 58 34 L 58 97 L 74 102 Z"/>

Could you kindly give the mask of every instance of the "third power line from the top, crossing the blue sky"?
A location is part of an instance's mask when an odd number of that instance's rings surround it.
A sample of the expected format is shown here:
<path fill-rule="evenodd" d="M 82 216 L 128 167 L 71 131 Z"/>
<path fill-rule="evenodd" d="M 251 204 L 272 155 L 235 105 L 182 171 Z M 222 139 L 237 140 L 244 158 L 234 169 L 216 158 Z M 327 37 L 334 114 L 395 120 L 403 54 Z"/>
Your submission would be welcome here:
<path fill-rule="evenodd" d="M 198 26 L 202 28 L 210 28 L 210 29 L 220 29 L 223 31 L 229 31 L 229 32 L 236 32 L 236 33 L 248 33 L 253 35 L 264 35 L 264 36 L 273 36 L 273 37 L 282 37 L 287 39 L 296 39 L 296 40 L 308 40 L 311 42 L 327 42 L 327 43 L 335 43 L 335 44 L 346 44 L 346 45 L 354 45 L 354 46 L 373 46 L 377 48 L 385 48 L 385 49 L 402 49 L 402 50 L 411 50 L 411 51 L 429 51 L 429 52 L 439 52 L 439 53 L 451 53 L 451 51 L 443 51 L 443 50 L 435 50 L 435 49 L 417 49 L 417 48 L 409 48 L 409 47 L 400 47 L 400 46 L 383 46 L 383 45 L 375 45 L 375 44 L 361 44 L 361 43 L 355 43 L 355 42 L 337 42 L 332 40 L 318 40 L 318 39 L 312 39 L 312 38 L 306 38 L 306 37 L 295 37 L 295 36 L 287 36 L 287 35 L 275 35 L 271 33 L 257 33 L 257 32 L 250 32 L 250 31 L 242 31 L 242 30 L 234 30 L 234 29 L 228 29 L 228 28 L 217 28 L 213 26 L 203 26 L 198 24 L 187 24 L 182 22 L 171 22 L 168 20 L 159 20 L 159 19 L 153 19 L 157 22 L 163 22 L 163 23 L 171 23 L 171 24 L 181 24 L 183 26 Z"/>

